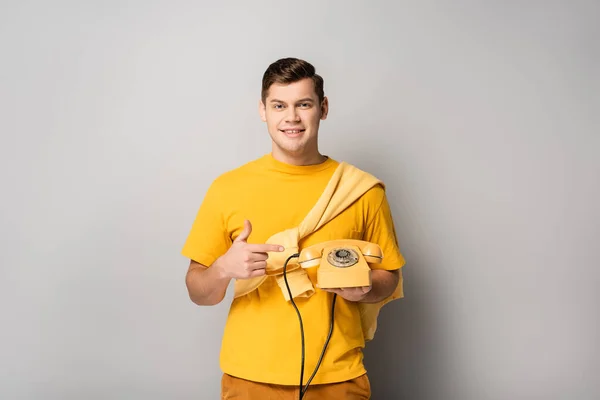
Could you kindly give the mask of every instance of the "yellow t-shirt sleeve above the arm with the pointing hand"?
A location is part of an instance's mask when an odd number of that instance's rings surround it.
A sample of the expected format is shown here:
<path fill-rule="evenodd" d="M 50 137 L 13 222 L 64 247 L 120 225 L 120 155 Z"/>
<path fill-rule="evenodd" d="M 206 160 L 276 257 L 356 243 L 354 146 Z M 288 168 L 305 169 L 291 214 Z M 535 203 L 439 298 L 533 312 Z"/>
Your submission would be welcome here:
<path fill-rule="evenodd" d="M 223 193 L 219 187 L 215 180 L 208 188 L 181 251 L 184 257 L 207 267 L 225 254 L 232 243 L 225 226 L 220 202 Z"/>

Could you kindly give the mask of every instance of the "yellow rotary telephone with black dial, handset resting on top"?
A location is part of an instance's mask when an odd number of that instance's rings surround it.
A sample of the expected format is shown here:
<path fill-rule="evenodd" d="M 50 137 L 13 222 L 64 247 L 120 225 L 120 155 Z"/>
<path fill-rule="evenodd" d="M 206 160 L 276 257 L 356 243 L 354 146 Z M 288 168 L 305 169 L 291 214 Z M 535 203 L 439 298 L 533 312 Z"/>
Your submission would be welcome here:
<path fill-rule="evenodd" d="M 340 239 L 318 243 L 300 252 L 302 268 L 319 267 L 320 288 L 346 288 L 371 285 L 368 264 L 381 263 L 383 252 L 375 243 L 356 239 Z"/>

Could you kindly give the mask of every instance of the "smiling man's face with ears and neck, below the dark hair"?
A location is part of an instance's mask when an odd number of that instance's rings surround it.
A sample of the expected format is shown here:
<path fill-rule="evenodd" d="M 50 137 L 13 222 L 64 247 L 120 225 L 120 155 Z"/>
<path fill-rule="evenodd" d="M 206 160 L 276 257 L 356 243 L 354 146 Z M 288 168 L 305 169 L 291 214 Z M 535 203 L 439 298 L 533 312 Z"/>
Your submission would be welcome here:
<path fill-rule="evenodd" d="M 260 115 L 267 123 L 273 151 L 294 158 L 318 154 L 319 123 L 327 118 L 327 111 L 327 98 L 319 104 L 309 78 L 288 85 L 273 84 L 265 103 L 260 102 Z"/>

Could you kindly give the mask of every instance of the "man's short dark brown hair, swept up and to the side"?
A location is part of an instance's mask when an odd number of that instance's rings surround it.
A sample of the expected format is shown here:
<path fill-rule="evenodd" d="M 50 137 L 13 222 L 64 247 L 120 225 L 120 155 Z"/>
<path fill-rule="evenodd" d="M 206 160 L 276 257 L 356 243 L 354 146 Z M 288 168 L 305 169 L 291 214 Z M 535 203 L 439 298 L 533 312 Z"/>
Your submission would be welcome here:
<path fill-rule="evenodd" d="M 272 84 L 290 84 L 299 80 L 310 78 L 315 84 L 315 92 L 319 97 L 319 103 L 325 98 L 323 91 L 323 78 L 315 72 L 315 67 L 304 60 L 298 58 L 282 58 L 267 68 L 263 75 L 261 98 L 263 103 L 269 94 L 269 88 Z"/>

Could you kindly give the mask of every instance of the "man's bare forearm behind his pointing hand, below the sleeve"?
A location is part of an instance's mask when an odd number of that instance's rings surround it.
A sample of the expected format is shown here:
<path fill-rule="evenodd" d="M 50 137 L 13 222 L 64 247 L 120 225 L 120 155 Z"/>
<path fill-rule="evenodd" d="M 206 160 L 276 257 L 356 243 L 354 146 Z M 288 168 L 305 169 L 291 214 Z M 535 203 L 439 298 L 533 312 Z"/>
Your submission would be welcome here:
<path fill-rule="evenodd" d="M 230 278 L 223 276 L 219 260 L 209 268 L 192 262 L 185 277 L 190 299 L 199 306 L 212 306 L 225 298 Z"/>

